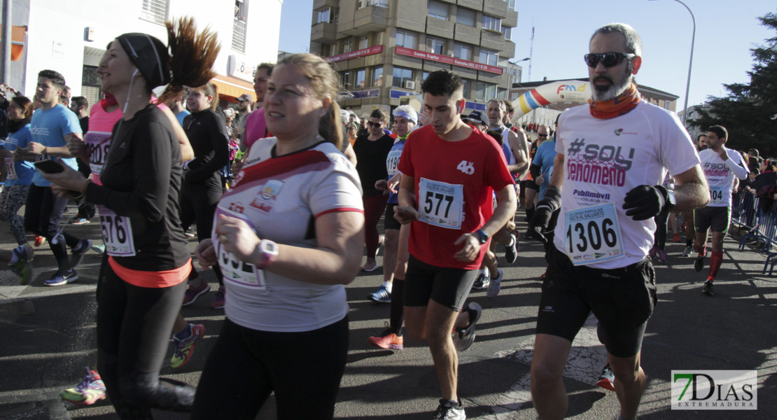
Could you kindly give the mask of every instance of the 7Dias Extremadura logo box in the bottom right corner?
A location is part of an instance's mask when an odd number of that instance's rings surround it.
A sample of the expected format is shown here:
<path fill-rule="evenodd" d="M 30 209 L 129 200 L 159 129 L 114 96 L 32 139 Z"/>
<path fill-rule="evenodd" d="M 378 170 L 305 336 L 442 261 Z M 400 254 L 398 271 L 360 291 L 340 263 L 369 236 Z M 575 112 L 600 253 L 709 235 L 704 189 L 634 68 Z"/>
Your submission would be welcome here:
<path fill-rule="evenodd" d="M 672 370 L 672 410 L 757 410 L 755 370 Z"/>

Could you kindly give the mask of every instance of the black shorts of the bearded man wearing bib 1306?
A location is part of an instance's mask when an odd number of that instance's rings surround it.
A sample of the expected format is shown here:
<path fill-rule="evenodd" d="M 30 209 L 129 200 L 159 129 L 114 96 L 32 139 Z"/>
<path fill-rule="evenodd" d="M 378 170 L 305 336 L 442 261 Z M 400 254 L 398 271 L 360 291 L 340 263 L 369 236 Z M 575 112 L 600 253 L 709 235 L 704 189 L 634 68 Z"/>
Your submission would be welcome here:
<path fill-rule="evenodd" d="M 615 357 L 636 355 L 657 302 L 650 259 L 621 269 L 593 269 L 573 266 L 553 245 L 545 259 L 549 266 L 542 283 L 537 333 L 571 342 L 593 311 L 607 351 Z"/>

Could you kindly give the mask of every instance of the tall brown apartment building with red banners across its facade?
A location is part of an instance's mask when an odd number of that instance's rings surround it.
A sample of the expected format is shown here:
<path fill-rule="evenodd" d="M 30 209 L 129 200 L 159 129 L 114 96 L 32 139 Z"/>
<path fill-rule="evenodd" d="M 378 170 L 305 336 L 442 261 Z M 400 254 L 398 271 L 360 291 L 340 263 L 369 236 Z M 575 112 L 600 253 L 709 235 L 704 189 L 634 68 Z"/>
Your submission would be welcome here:
<path fill-rule="evenodd" d="M 423 80 L 441 69 L 464 80 L 467 109 L 485 110 L 520 75 L 508 63 L 515 2 L 314 0 L 310 51 L 333 63 L 340 106 L 358 116 L 418 98 Z"/>

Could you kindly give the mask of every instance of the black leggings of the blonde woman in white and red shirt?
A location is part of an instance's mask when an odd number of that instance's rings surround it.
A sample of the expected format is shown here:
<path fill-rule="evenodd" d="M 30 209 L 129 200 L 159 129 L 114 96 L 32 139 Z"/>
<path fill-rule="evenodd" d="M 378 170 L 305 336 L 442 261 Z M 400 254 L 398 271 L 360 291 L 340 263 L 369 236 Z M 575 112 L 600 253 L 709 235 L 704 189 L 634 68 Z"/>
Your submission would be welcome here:
<path fill-rule="evenodd" d="M 227 318 L 202 371 L 192 420 L 253 420 L 272 391 L 278 420 L 329 420 L 347 356 L 347 316 L 305 332 L 256 331 Z"/>

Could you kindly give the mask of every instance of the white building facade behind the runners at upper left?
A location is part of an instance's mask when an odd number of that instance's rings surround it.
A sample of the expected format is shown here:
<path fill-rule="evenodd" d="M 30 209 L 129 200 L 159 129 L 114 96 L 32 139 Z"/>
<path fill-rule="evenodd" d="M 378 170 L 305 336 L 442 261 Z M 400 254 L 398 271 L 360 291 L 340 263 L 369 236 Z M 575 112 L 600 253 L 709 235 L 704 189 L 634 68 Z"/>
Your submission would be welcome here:
<path fill-rule="evenodd" d="M 12 64 L 12 85 L 35 93 L 37 73 L 59 71 L 73 96 L 99 100 L 97 66 L 108 43 L 122 33 L 148 33 L 167 41 L 165 20 L 192 16 L 218 34 L 214 63 L 221 99 L 253 93 L 253 70 L 275 62 L 283 0 L 15 0 L 14 25 L 26 26 L 23 57 Z M 18 17 L 18 19 L 17 19 Z"/>

